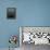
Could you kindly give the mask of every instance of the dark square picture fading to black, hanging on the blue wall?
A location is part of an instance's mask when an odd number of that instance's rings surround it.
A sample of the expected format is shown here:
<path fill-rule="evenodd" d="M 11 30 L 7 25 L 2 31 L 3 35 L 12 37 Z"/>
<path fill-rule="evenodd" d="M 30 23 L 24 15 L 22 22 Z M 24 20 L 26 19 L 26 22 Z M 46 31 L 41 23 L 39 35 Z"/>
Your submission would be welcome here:
<path fill-rule="evenodd" d="M 7 18 L 16 18 L 16 8 L 7 8 Z"/>

